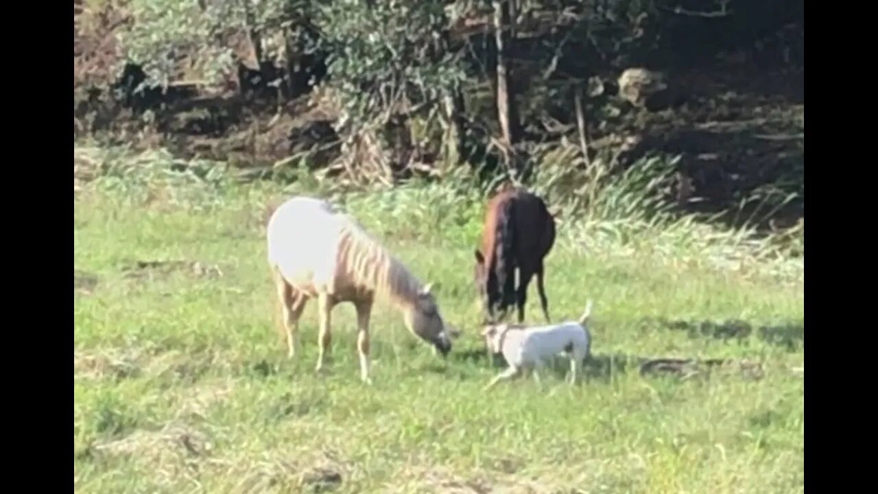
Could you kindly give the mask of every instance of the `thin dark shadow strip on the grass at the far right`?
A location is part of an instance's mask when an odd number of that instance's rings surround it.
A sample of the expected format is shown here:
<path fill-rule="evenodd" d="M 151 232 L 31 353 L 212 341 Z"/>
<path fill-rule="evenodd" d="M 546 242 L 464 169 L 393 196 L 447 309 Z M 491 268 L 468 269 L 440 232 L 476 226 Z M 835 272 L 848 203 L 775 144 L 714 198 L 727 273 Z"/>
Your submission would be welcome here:
<path fill-rule="evenodd" d="M 783 346 L 789 351 L 804 342 L 805 325 L 803 322 L 786 323 L 774 326 L 754 327 L 751 323 L 739 319 L 716 321 L 682 321 L 664 318 L 647 319 L 644 324 L 667 330 L 686 331 L 690 338 L 709 337 L 716 339 L 744 339 L 756 335 L 769 345 Z"/>

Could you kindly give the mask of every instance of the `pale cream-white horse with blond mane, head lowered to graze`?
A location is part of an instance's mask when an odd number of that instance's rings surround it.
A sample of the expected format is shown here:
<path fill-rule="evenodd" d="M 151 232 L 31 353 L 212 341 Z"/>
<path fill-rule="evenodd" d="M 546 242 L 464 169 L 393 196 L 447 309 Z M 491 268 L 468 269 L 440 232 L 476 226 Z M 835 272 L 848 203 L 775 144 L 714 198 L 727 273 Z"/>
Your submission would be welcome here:
<path fill-rule="evenodd" d="M 320 372 L 332 339 L 332 309 L 349 301 L 356 308 L 360 378 L 370 383 L 369 319 L 376 295 L 402 312 L 409 331 L 443 356 L 450 352 L 450 337 L 458 332 L 443 322 L 429 285 L 421 285 L 355 218 L 325 200 L 293 197 L 270 215 L 267 238 L 290 358 L 299 345 L 302 310 L 316 298 L 320 355 L 315 370 Z"/>

